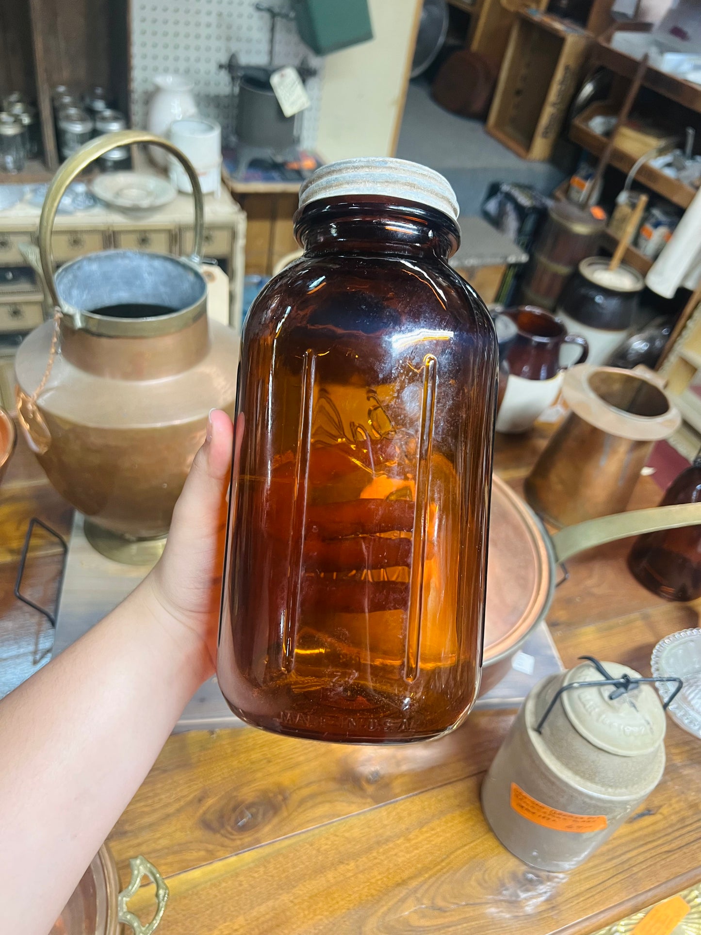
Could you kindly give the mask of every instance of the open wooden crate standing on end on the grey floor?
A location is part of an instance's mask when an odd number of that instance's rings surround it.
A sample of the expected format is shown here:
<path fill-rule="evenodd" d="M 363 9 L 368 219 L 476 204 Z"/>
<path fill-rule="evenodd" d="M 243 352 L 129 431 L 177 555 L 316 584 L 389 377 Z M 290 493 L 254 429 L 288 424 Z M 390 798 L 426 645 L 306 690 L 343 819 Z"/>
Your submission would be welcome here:
<path fill-rule="evenodd" d="M 487 131 L 522 159 L 549 159 L 591 42 L 592 36 L 572 23 L 536 10 L 519 12 Z"/>

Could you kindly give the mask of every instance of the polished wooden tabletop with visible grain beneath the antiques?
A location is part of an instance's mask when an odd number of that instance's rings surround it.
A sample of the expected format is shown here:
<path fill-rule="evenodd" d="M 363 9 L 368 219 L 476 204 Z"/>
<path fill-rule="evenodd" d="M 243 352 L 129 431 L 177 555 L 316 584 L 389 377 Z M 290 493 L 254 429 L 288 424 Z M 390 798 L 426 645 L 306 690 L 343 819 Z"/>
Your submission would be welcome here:
<path fill-rule="evenodd" d="M 544 442 L 537 432 L 500 438 L 498 472 L 518 486 Z M 33 497 L 32 510 L 60 518 L 46 484 L 36 481 L 22 506 L 8 480 L 0 541 L 7 514 L 21 525 Z M 631 506 L 659 497 L 642 478 Z M 566 666 L 587 653 L 649 672 L 657 640 L 697 626 L 698 605 L 665 603 L 633 581 L 627 548 L 568 562 L 549 618 Z M 30 585 L 46 586 L 46 569 L 40 578 Z M 5 590 L 2 612 L 0 659 L 19 619 Z M 408 747 L 248 727 L 171 737 L 110 836 L 122 880 L 136 854 L 165 874 L 162 935 L 583 935 L 701 880 L 701 743 L 670 720 L 663 782 L 586 864 L 547 873 L 509 855 L 484 822 L 479 783 L 512 717 L 475 713 L 450 736 Z M 146 886 L 133 900 L 144 919 L 151 899 Z"/>

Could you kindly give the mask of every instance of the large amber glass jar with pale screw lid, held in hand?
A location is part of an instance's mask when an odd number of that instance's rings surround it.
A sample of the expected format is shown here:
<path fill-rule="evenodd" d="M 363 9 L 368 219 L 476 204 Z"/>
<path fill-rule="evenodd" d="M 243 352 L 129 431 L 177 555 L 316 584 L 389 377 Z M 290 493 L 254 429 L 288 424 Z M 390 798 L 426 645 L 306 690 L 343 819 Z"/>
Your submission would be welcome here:
<path fill-rule="evenodd" d="M 250 309 L 218 662 L 250 724 L 416 741 L 477 696 L 498 352 L 456 221 L 430 169 L 324 166 Z"/>

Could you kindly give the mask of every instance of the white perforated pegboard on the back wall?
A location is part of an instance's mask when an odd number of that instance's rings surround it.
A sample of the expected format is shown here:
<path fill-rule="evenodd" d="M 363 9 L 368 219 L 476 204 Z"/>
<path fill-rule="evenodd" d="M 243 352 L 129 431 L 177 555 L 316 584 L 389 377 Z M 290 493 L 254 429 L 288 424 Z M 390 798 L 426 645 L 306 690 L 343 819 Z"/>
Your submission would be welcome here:
<path fill-rule="evenodd" d="M 285 0 L 272 0 L 280 7 Z M 255 0 L 131 0 L 132 81 L 134 126 L 146 126 L 153 79 L 182 75 L 193 81 L 200 113 L 222 124 L 222 137 L 231 133 L 234 111 L 232 85 L 226 63 L 233 51 L 244 65 L 267 65 L 270 17 L 255 8 Z M 322 96 L 323 59 L 299 37 L 293 22 L 278 20 L 275 65 L 299 65 L 307 57 L 319 69 L 308 79 L 311 105 L 301 117 L 301 145 L 314 149 Z"/>

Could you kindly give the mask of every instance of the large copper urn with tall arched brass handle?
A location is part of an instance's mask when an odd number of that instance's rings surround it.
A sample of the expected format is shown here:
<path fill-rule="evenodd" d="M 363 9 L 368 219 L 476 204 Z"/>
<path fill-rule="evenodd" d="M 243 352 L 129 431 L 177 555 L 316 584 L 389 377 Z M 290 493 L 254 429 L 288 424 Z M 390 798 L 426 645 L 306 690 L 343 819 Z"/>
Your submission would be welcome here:
<path fill-rule="evenodd" d="M 55 274 L 51 232 L 61 197 L 93 160 L 151 143 L 175 155 L 193 183 L 188 259 L 130 250 L 81 256 Z M 21 428 L 58 492 L 85 514 L 99 552 L 152 561 L 205 439 L 213 407 L 234 411 L 237 340 L 207 320 L 199 269 L 204 202 L 193 166 L 143 131 L 107 134 L 54 176 L 39 222 L 39 253 L 54 321 L 17 352 Z M 155 540 L 155 542 L 154 542 Z"/>

